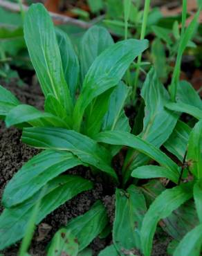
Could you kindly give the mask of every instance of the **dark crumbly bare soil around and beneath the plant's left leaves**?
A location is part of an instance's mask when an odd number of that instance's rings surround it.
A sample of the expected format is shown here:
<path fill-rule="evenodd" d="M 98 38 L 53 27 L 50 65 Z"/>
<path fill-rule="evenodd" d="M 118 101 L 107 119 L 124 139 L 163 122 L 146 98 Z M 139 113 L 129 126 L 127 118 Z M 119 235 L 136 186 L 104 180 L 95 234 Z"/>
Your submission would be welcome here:
<path fill-rule="evenodd" d="M 0 83 L 7 89 L 12 91 L 17 98 L 26 104 L 32 104 L 38 109 L 43 109 L 44 97 L 36 83 L 33 85 L 25 85 L 19 87 L 16 81 L 13 80 L 10 84 L 3 81 Z M 30 158 L 38 153 L 37 149 L 33 149 L 21 143 L 21 131 L 16 128 L 6 129 L 3 122 L 0 121 L 0 199 L 5 188 L 6 183 L 12 178 L 13 174 L 26 163 Z M 84 214 L 96 200 L 100 199 L 107 208 L 109 214 L 109 222 L 113 223 L 114 219 L 114 191 L 115 188 L 110 183 L 102 179 L 100 176 L 92 176 L 90 170 L 86 167 L 76 167 L 68 171 L 68 174 L 77 174 L 83 176 L 85 179 L 90 179 L 95 184 L 93 190 L 82 192 L 73 199 L 64 203 L 57 210 L 48 214 L 48 216 L 37 226 L 32 244 L 30 246 L 30 254 L 33 256 L 46 255 L 46 248 L 50 239 L 55 232 L 65 226 L 67 221 L 71 218 Z M 0 205 L 0 212 L 3 210 Z M 167 255 L 166 248 L 170 239 L 165 235 L 163 241 L 157 237 L 154 240 L 154 251 L 152 255 L 164 256 Z M 90 247 L 93 249 L 93 255 L 98 255 L 100 250 L 111 244 L 111 235 L 106 239 L 95 238 Z M 5 256 L 16 256 L 19 244 L 10 247 L 3 251 Z M 113 256 L 113 255 L 111 255 Z"/>

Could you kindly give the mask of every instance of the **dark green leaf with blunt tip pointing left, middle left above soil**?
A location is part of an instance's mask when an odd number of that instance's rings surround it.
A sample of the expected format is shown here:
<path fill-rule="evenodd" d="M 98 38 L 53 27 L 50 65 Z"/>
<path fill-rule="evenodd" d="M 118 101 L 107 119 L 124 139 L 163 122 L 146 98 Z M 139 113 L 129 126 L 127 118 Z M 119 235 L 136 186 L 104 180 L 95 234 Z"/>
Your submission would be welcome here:
<path fill-rule="evenodd" d="M 76 131 L 60 128 L 25 128 L 22 140 L 28 145 L 42 149 L 69 151 L 80 160 L 93 165 L 117 179 L 111 168 L 111 156 L 107 149 Z"/>

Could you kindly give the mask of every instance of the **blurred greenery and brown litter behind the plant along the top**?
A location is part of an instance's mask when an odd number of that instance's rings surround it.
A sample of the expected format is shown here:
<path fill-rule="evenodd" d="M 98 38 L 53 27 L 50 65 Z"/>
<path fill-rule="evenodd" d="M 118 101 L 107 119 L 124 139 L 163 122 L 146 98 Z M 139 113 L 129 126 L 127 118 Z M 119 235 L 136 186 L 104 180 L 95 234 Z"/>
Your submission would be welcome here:
<path fill-rule="evenodd" d="M 68 34 L 77 52 L 82 35 L 93 25 L 107 28 L 115 42 L 125 38 L 124 0 L 0 0 L 0 78 L 4 81 L 17 79 L 21 86 L 33 82 L 33 77 L 35 79 L 24 42 L 23 23 L 26 9 L 36 2 L 46 6 L 55 26 Z M 199 2 L 187 1 L 187 25 L 199 8 Z M 145 58 L 154 64 L 160 79 L 169 82 L 178 51 L 182 2 L 152 0 L 151 4 L 146 33 L 150 48 Z M 131 1 L 127 37 L 140 38 L 143 7 L 143 0 Z M 202 14 L 194 39 L 183 57 L 181 72 L 181 78 L 192 82 L 197 90 L 202 87 L 201 22 Z M 149 65 L 145 71 L 147 69 Z"/>

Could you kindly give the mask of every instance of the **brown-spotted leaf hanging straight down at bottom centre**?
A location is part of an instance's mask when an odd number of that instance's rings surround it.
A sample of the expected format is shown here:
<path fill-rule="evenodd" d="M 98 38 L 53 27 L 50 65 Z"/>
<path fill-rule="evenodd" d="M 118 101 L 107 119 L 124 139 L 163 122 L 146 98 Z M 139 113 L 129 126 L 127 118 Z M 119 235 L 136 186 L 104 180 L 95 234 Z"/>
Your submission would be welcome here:
<path fill-rule="evenodd" d="M 135 185 L 131 185 L 127 191 L 116 190 L 113 244 L 119 253 L 122 250 L 140 249 L 140 228 L 146 211 L 145 197 Z"/>

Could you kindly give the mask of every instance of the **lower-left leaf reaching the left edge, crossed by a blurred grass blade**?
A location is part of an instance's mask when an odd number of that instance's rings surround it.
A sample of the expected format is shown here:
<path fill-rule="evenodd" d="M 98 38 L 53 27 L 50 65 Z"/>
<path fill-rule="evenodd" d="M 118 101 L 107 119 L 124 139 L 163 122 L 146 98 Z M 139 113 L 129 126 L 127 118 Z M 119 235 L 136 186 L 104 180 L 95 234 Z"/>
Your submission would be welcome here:
<path fill-rule="evenodd" d="M 36 224 L 42 221 L 47 214 L 58 208 L 59 205 L 72 199 L 76 194 L 91 188 L 91 181 L 82 179 L 79 176 L 58 176 L 48 182 L 42 199 L 39 198 L 41 193 L 39 191 L 28 201 L 3 210 L 0 216 L 0 250 L 24 237 L 30 214 L 33 212 L 35 203 L 38 200 L 41 200 L 41 203 L 39 212 L 37 212 Z"/>

